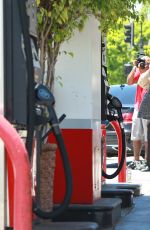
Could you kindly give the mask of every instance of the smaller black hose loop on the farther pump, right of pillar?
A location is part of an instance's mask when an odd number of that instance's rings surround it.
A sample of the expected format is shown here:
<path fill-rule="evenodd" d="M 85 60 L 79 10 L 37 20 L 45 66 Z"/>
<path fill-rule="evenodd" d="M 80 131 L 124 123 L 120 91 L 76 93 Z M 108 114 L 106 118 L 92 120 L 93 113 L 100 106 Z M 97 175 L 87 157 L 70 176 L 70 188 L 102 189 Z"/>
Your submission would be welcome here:
<path fill-rule="evenodd" d="M 120 123 L 119 123 L 119 126 L 120 126 Z M 126 138 L 125 138 L 125 132 L 124 132 L 124 128 L 122 128 L 120 126 L 120 129 L 121 129 L 121 137 L 122 137 L 122 155 L 121 155 L 121 160 L 120 160 L 120 163 L 118 165 L 118 168 L 117 170 L 111 174 L 111 175 L 108 175 L 103 169 L 102 169 L 102 176 L 105 177 L 106 179 L 113 179 L 115 178 L 116 176 L 119 175 L 123 165 L 124 165 L 124 161 L 125 161 L 125 157 L 126 157 Z"/>

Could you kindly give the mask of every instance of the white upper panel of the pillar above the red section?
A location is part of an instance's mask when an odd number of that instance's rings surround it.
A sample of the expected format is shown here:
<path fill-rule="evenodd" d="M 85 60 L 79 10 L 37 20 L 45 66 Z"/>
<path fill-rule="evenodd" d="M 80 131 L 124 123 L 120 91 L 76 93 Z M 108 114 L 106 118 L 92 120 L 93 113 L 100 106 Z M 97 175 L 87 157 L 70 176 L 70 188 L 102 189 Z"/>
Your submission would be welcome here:
<path fill-rule="evenodd" d="M 54 94 L 58 116 L 67 115 L 65 122 L 73 126 L 90 128 L 93 120 L 100 121 L 101 116 L 101 34 L 99 22 L 90 17 L 82 32 L 65 42 L 56 64 L 56 77 L 62 78 L 60 84 L 55 81 Z M 72 52 L 73 57 L 63 51 Z M 76 125 L 75 125 L 76 123 Z M 75 127 L 74 127 L 75 128 Z M 79 128 L 79 127 L 77 127 Z"/>

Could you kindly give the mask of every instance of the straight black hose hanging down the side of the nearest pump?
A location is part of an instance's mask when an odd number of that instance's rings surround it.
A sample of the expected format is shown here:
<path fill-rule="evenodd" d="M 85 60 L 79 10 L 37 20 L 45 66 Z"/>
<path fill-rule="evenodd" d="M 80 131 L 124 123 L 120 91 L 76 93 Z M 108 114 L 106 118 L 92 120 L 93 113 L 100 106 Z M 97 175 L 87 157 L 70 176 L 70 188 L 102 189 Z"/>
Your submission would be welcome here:
<path fill-rule="evenodd" d="M 17 0 L 18 9 L 20 14 L 21 29 L 24 39 L 25 54 L 26 54 L 26 66 L 28 73 L 27 83 L 27 138 L 26 148 L 31 159 L 32 154 L 32 142 L 34 135 L 34 124 L 35 124 L 35 94 L 34 94 L 34 68 L 32 59 L 32 50 L 29 35 L 29 22 L 26 14 L 25 0 Z"/>

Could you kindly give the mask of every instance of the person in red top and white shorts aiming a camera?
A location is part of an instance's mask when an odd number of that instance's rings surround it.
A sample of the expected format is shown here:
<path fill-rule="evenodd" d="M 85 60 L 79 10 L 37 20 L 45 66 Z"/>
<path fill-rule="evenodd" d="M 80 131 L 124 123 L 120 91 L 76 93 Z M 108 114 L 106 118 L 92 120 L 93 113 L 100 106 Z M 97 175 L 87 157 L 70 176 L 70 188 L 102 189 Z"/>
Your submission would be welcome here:
<path fill-rule="evenodd" d="M 146 56 L 139 55 L 138 58 L 133 62 L 133 69 L 127 77 L 127 84 L 132 85 L 138 82 L 141 74 L 148 70 L 148 65 L 146 63 Z M 133 142 L 133 151 L 134 151 L 134 160 L 131 162 L 128 167 L 131 169 L 138 169 L 144 171 L 147 169 L 146 159 L 147 159 L 147 123 L 148 121 L 142 118 L 138 118 L 138 111 L 143 99 L 143 96 L 146 93 L 146 89 L 143 89 L 137 85 L 135 104 L 134 104 L 134 113 L 132 117 L 132 130 L 131 130 L 131 140 Z M 145 145 L 145 160 L 140 161 L 140 154 L 142 143 L 144 141 Z"/>

